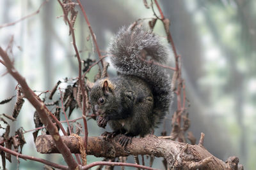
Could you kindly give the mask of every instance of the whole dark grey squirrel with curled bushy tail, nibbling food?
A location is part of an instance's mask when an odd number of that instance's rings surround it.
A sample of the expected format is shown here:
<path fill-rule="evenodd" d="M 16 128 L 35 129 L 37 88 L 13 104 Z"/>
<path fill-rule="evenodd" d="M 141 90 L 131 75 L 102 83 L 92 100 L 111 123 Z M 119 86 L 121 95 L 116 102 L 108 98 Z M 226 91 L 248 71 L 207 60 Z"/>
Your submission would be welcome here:
<path fill-rule="evenodd" d="M 121 146 L 132 137 L 149 134 L 168 113 L 172 100 L 170 76 L 152 60 L 164 63 L 167 47 L 152 31 L 140 26 L 122 27 L 109 45 L 111 63 L 118 76 L 102 78 L 88 85 L 97 125 L 107 123 L 113 132 L 102 136 L 118 138 Z"/>

